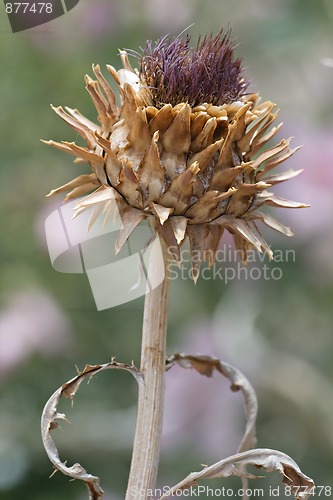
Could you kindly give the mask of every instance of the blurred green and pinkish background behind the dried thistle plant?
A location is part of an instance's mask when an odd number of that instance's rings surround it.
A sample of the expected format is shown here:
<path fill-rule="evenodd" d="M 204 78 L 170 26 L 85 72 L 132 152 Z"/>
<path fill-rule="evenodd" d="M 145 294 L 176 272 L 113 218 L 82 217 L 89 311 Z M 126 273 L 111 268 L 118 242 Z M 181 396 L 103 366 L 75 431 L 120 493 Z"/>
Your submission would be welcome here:
<path fill-rule="evenodd" d="M 257 390 L 258 445 L 286 452 L 317 485 L 333 487 L 332 1 L 81 0 L 67 15 L 17 34 L 0 7 L 1 500 L 87 498 L 78 482 L 48 479 L 43 405 L 75 365 L 111 356 L 139 364 L 143 300 L 97 312 L 86 275 L 52 269 L 44 222 L 61 200 L 45 194 L 83 170 L 39 142 L 76 139 L 49 104 L 95 120 L 83 82 L 91 64 L 119 68 L 118 48 L 137 50 L 192 23 L 193 39 L 232 26 L 252 90 L 281 109 L 280 138 L 303 145 L 284 169 L 305 171 L 279 194 L 312 207 L 274 212 L 294 238 L 265 232 L 273 249 L 295 250 L 289 262 L 267 263 L 279 266 L 281 279 L 173 281 L 168 351 L 236 365 Z M 130 375 L 106 372 L 82 385 L 73 408 L 61 405 L 72 422 L 54 434 L 61 457 L 99 475 L 106 500 L 124 498 L 135 404 Z M 243 428 L 241 397 L 226 380 L 172 370 L 159 485 L 234 453 Z M 276 474 L 250 483 L 267 498 L 269 486 L 281 484 Z M 238 480 L 213 485 L 234 488 L 237 498 Z"/>

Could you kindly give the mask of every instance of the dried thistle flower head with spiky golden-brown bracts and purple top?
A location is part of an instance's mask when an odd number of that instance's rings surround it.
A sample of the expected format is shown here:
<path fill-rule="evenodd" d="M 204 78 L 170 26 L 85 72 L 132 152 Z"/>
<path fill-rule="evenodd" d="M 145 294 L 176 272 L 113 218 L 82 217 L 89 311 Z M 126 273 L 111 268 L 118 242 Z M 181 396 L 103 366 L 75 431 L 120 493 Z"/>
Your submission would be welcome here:
<path fill-rule="evenodd" d="M 189 44 L 189 36 L 148 42 L 139 71 L 121 51 L 123 69 L 107 66 L 121 94 L 120 107 L 100 67 L 93 66 L 96 80 L 87 76 L 86 88 L 99 125 L 76 109 L 53 108 L 85 139 L 86 147 L 47 143 L 92 167 L 90 175 L 50 195 L 69 191 L 70 200 L 92 191 L 77 210 L 93 208 L 93 219 L 115 198 L 124 225 L 117 250 L 143 219 L 151 222 L 178 263 L 188 237 L 196 278 L 201 260 L 214 262 L 225 229 L 244 261 L 252 247 L 271 257 L 257 223 L 292 233 L 261 207 L 306 205 L 268 190 L 301 172 L 271 174 L 296 149 L 289 147 L 290 139 L 265 149 L 280 128 L 271 128 L 275 105 L 246 94 L 248 84 L 240 61 L 234 60 L 230 34 L 206 36 L 195 49 Z"/>

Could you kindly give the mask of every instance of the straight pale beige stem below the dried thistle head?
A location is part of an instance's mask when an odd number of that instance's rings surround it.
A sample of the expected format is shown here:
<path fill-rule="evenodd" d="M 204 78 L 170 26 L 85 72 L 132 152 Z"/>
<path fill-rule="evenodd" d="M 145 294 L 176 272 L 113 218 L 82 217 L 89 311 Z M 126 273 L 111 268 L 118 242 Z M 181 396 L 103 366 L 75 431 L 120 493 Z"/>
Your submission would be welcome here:
<path fill-rule="evenodd" d="M 169 289 L 169 254 L 162 238 L 160 243 L 165 275 L 163 282 L 145 297 L 140 366 L 143 383 L 139 384 L 138 413 L 126 500 L 137 500 L 139 491 L 141 494 L 146 492 L 146 500 L 153 498 L 149 495 L 149 490 L 155 489 L 160 457 Z M 155 253 L 149 260 L 148 276 L 160 273 L 160 266 Z"/>

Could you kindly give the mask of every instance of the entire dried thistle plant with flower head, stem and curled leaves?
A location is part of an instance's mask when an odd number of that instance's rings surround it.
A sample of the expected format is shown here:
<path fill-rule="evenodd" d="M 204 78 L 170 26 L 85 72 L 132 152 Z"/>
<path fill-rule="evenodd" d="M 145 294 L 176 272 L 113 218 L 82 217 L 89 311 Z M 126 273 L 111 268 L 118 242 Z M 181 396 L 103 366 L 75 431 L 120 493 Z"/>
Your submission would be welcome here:
<path fill-rule="evenodd" d="M 121 106 L 117 106 L 99 66 L 93 66 L 97 80 L 87 76 L 86 83 L 99 125 L 76 109 L 53 108 L 84 138 L 86 147 L 47 142 L 92 168 L 91 174 L 77 177 L 50 195 L 69 191 L 66 200 L 86 195 L 78 201 L 76 213 L 92 209 L 91 223 L 101 212 L 108 218 L 116 200 L 123 225 L 116 250 L 147 219 L 160 236 L 164 259 L 164 281 L 145 298 L 140 369 L 114 361 L 88 365 L 51 396 L 43 412 L 42 436 L 51 462 L 64 474 L 85 481 L 89 498 L 94 500 L 103 497 L 99 479 L 79 464 L 68 467 L 61 462 L 50 436 L 56 421 L 63 418 L 57 412 L 60 397 L 74 396 L 83 378 L 101 369 L 133 373 L 139 386 L 138 417 L 126 500 L 137 498 L 137 491 L 152 499 L 163 420 L 170 259 L 181 263 L 181 246 L 188 237 L 196 280 L 202 260 L 213 264 L 225 229 L 233 235 L 244 262 L 251 247 L 271 257 L 257 223 L 287 236 L 292 233 L 261 207 L 306 206 L 268 191 L 301 172 L 271 174 L 296 150 L 289 147 L 290 139 L 265 149 L 280 128 L 271 128 L 277 117 L 275 105 L 269 101 L 260 104 L 258 95 L 246 93 L 248 82 L 240 60 L 234 59 L 230 32 L 199 39 L 195 49 L 190 47 L 189 36 L 147 42 L 139 55 L 139 71 L 132 68 L 125 51 L 120 56 L 123 69 L 107 68 L 118 85 Z M 154 258 L 156 255 L 149 262 L 152 271 L 157 267 Z M 203 477 L 239 475 L 246 491 L 247 478 L 253 477 L 247 475 L 246 464 L 280 471 L 296 498 L 310 497 L 314 483 L 290 457 L 275 450 L 251 449 L 255 445 L 257 401 L 238 370 L 208 356 L 175 354 L 167 360 L 168 369 L 174 364 L 206 376 L 216 370 L 229 378 L 233 390 L 243 392 L 247 425 L 235 455 L 190 474 L 161 499 Z M 244 493 L 243 500 L 247 499 Z"/>

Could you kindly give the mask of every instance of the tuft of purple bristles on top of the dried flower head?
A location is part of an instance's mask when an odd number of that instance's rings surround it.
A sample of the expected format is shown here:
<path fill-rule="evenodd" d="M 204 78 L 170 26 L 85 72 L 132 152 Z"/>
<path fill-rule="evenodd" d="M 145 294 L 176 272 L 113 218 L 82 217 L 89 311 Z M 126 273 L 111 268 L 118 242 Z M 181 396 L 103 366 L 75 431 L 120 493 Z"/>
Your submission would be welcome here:
<path fill-rule="evenodd" d="M 153 103 L 175 106 L 188 102 L 220 106 L 239 99 L 249 85 L 243 77 L 240 59 L 233 59 L 230 31 L 199 38 L 190 47 L 190 35 L 169 36 L 155 44 L 148 41 L 140 60 L 140 79 L 150 88 Z"/>

